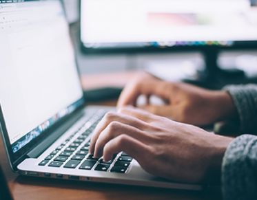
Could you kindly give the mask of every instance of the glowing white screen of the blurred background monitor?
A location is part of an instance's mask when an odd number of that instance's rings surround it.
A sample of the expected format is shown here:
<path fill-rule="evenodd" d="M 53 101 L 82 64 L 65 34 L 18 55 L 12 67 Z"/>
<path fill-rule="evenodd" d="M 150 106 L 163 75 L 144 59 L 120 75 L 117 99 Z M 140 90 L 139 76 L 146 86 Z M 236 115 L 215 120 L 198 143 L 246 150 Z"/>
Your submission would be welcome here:
<path fill-rule="evenodd" d="M 231 46 L 257 41 L 249 0 L 81 0 L 87 49 Z"/>

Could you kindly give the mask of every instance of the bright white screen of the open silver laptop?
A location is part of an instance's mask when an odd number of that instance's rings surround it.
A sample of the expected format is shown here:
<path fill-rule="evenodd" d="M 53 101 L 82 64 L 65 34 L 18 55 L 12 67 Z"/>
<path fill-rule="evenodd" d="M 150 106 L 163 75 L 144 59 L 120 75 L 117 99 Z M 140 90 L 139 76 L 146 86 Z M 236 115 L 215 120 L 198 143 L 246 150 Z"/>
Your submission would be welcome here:
<path fill-rule="evenodd" d="M 0 104 L 16 153 L 81 106 L 83 91 L 60 1 L 0 1 L 0 44 Z"/>

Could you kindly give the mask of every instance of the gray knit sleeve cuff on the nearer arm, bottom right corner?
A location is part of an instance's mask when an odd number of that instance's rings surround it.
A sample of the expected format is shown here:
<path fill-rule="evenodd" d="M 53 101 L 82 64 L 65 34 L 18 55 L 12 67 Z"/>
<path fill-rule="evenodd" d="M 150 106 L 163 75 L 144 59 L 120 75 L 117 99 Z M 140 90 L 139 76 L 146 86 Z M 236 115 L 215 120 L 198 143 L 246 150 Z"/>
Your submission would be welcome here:
<path fill-rule="evenodd" d="M 241 135 L 223 157 L 224 200 L 257 199 L 257 136 Z"/>

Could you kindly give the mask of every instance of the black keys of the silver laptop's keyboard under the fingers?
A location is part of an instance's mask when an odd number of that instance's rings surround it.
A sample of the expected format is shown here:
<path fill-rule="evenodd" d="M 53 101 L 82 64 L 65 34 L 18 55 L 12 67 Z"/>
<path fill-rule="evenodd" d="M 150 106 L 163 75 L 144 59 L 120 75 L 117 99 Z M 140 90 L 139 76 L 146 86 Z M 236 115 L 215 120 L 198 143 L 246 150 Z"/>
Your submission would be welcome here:
<path fill-rule="evenodd" d="M 104 162 L 102 158 L 93 157 L 88 153 L 90 147 L 90 134 L 96 128 L 96 125 L 105 115 L 105 111 L 99 111 L 92 116 L 90 122 L 92 125 L 83 131 L 79 136 L 76 136 L 79 131 L 85 129 L 85 122 L 78 131 L 68 137 L 60 146 L 58 146 L 50 155 L 45 157 L 39 166 L 50 166 L 56 168 L 78 168 L 80 170 L 96 170 L 110 173 L 126 173 L 132 157 L 126 153 L 119 153 L 114 155 L 109 162 Z"/>

